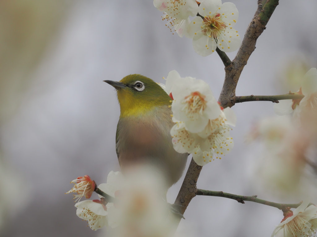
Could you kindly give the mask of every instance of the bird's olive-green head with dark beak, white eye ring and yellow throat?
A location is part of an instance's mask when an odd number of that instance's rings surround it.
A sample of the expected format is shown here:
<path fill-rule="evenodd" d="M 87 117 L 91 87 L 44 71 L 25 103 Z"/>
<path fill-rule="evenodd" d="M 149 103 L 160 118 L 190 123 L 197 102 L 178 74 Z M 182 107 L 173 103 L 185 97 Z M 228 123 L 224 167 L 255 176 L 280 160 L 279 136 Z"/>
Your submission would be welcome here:
<path fill-rule="evenodd" d="M 120 82 L 104 82 L 117 90 L 120 117 L 139 116 L 156 106 L 171 104 L 171 98 L 156 82 L 139 74 L 128 75 Z"/>

